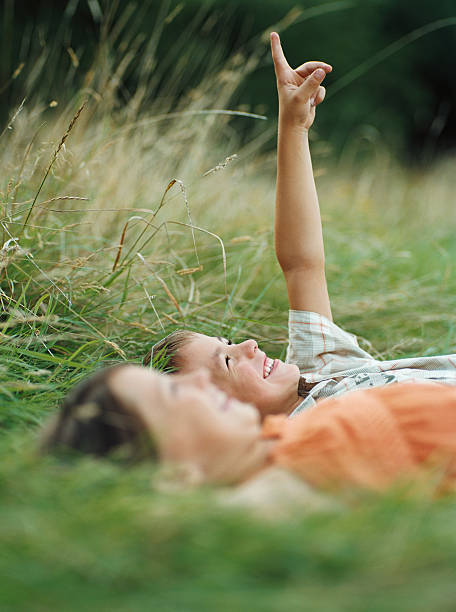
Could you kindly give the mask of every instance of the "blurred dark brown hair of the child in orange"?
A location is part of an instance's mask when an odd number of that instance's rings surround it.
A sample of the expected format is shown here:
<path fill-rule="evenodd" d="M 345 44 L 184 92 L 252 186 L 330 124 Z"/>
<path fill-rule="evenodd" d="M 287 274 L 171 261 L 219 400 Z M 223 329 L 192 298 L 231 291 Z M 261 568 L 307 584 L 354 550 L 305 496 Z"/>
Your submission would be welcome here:
<path fill-rule="evenodd" d="M 129 462 L 156 459 L 157 449 L 141 418 L 113 393 L 109 379 L 125 364 L 105 368 L 79 383 L 45 430 L 42 452 L 73 450 Z"/>

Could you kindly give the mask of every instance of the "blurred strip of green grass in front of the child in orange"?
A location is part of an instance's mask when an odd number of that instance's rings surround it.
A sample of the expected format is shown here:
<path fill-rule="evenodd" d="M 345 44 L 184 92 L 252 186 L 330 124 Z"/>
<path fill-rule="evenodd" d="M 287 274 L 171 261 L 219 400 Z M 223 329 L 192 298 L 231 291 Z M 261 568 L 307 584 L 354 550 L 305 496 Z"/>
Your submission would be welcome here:
<path fill-rule="evenodd" d="M 157 490 L 148 467 L 37 461 L 31 441 L 2 448 L 2 609 L 453 609 L 453 500 L 271 522 Z"/>

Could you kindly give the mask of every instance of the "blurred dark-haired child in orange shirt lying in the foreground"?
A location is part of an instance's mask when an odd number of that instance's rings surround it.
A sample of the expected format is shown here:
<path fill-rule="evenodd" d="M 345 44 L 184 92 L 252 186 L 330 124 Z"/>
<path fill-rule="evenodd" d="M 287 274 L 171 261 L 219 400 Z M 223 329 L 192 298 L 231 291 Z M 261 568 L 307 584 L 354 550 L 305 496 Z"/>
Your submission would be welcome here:
<path fill-rule="evenodd" d="M 73 390 L 43 446 L 158 459 L 185 466 L 195 484 L 252 484 L 274 469 L 275 486 L 293 474 L 319 489 L 381 491 L 429 481 L 432 469 L 431 482 L 451 489 L 456 388 L 401 383 L 354 391 L 261 425 L 258 411 L 215 387 L 207 370 L 169 375 L 123 364 Z"/>

